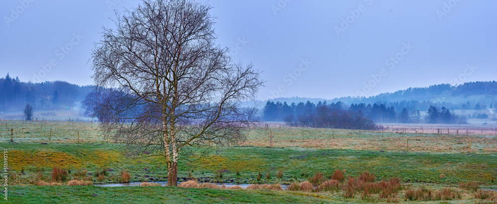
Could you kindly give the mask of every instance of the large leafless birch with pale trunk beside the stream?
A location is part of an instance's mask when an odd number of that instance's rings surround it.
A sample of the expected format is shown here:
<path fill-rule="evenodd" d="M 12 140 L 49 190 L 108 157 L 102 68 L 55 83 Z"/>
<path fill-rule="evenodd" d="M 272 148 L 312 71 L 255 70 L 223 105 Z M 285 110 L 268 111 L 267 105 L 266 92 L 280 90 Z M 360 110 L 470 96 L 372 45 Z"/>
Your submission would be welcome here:
<path fill-rule="evenodd" d="M 215 44 L 210 8 L 144 0 L 116 12 L 116 28 L 103 28 L 92 53 L 104 134 L 129 156 L 164 156 L 169 186 L 177 186 L 180 157 L 243 141 L 257 120 L 241 102 L 255 99 L 260 73 Z"/>

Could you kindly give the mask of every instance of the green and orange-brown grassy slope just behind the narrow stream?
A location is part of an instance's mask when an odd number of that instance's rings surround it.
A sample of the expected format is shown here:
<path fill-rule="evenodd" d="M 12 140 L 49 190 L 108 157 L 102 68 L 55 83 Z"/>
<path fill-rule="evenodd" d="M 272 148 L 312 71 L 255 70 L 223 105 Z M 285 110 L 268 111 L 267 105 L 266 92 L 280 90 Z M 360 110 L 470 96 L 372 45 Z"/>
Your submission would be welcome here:
<path fill-rule="evenodd" d="M 97 183 L 118 182 L 118 174 L 123 170 L 131 173 L 132 181 L 166 181 L 162 158 L 131 160 L 110 144 L 3 144 L 2 147 L 9 150 L 12 170 L 24 173 L 19 175 L 20 180 L 34 180 L 40 173 L 49 177 L 52 168 L 58 166 L 71 170 L 72 174 L 86 169 L 93 176 L 102 168 L 110 169 L 105 179 Z M 316 172 L 330 175 L 335 169 L 346 170 L 346 176 L 357 176 L 367 170 L 379 179 L 400 177 L 404 182 L 476 181 L 494 185 L 497 155 L 237 147 L 213 158 L 192 163 L 181 161 L 178 171 L 180 181 L 191 175 L 203 178 L 204 182 L 251 184 L 303 181 Z M 276 177 L 278 171 L 283 172 L 281 179 Z M 264 176 L 260 181 L 258 173 Z"/>

